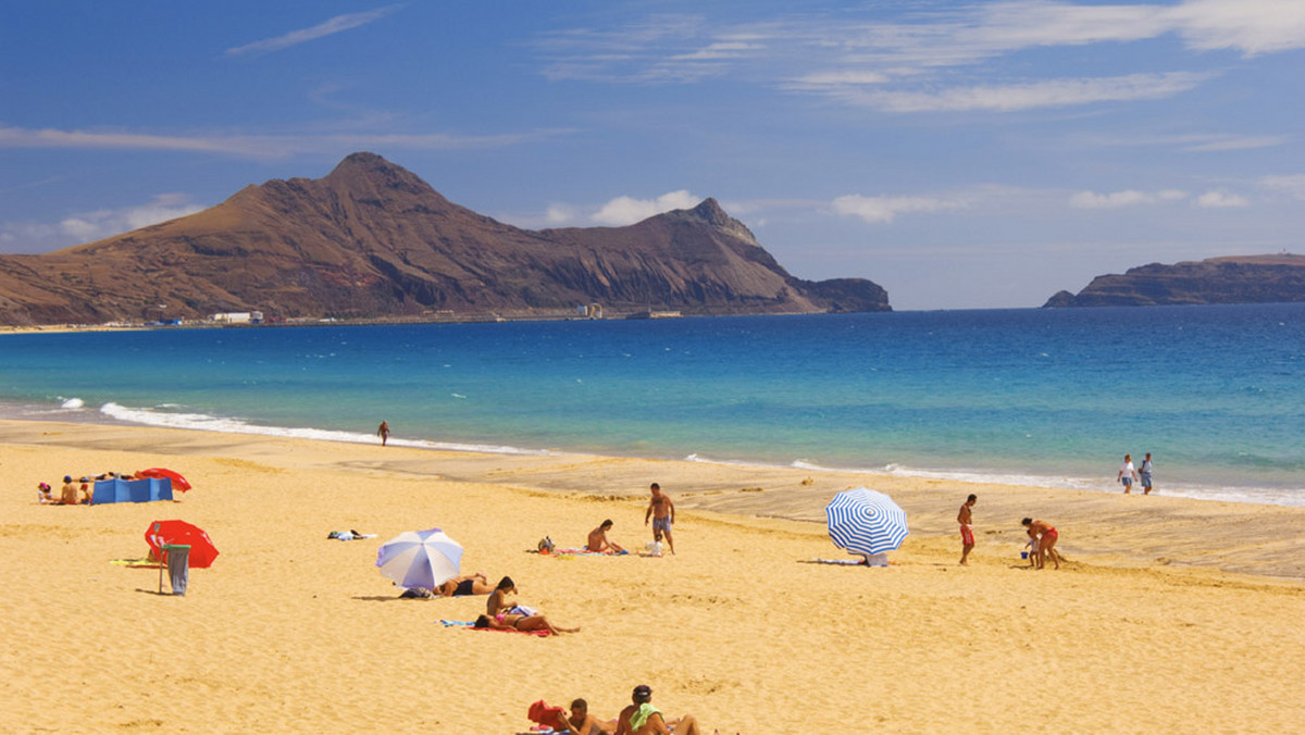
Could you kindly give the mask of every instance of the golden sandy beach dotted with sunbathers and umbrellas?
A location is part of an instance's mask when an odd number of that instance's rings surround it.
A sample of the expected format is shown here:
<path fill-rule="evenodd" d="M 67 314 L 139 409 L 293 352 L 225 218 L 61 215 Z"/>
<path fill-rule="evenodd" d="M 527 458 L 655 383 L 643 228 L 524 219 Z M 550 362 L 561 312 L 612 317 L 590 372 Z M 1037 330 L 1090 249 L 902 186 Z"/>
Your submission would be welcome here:
<path fill-rule="evenodd" d="M 150 466 L 194 490 L 37 504 L 38 482 Z M 615 717 L 641 683 L 707 732 L 1305 731 L 1300 508 L 34 422 L 0 422 L 0 469 L 12 732 L 512 734 L 536 700 Z M 677 507 L 677 555 L 534 552 L 603 518 L 642 550 L 654 480 Z M 893 565 L 806 563 L 844 557 L 823 505 L 855 486 L 910 514 Z M 1060 529 L 1062 569 L 1019 559 L 1023 516 Z M 144 556 L 163 518 L 221 550 L 185 597 L 112 564 Z M 522 603 L 581 632 L 446 628 L 484 598 L 398 599 L 376 550 L 427 527 L 466 547 L 463 571 L 510 574 Z M 348 529 L 378 538 L 326 538 Z"/>

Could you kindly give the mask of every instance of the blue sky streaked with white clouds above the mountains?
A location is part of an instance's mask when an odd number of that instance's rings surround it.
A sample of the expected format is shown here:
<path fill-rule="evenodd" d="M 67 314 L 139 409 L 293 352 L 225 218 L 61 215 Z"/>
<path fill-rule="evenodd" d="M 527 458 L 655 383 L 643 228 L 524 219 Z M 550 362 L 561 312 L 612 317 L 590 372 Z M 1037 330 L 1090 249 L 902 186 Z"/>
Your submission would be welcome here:
<path fill-rule="evenodd" d="M 371 150 L 522 227 L 715 197 L 795 275 L 1034 307 L 1302 252 L 1305 0 L 0 4 L 0 252 Z"/>

